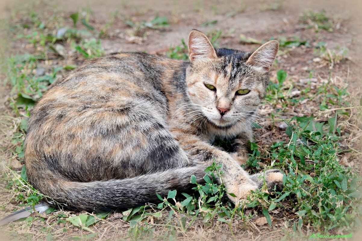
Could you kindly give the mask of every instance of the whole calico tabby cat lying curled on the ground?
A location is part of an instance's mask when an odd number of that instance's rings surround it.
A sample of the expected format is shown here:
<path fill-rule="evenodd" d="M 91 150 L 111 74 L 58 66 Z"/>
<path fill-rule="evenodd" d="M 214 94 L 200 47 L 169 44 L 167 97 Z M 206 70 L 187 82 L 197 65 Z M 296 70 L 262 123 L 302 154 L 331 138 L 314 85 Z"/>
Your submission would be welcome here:
<path fill-rule="evenodd" d="M 264 185 L 282 188 L 277 169 L 249 175 L 251 117 L 264 97 L 279 43 L 255 52 L 212 47 L 192 30 L 189 60 L 121 52 L 90 60 L 51 88 L 31 111 L 25 140 L 29 182 L 53 206 L 113 210 L 188 191 L 191 175 L 222 164 L 234 203 Z M 232 152 L 212 145 L 231 141 Z"/>

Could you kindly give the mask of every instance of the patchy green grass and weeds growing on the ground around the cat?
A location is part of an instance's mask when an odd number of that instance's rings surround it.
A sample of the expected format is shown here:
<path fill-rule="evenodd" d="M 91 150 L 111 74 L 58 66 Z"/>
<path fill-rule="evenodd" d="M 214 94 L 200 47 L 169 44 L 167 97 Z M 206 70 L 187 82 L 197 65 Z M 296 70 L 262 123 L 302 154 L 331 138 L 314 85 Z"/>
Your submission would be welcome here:
<path fill-rule="evenodd" d="M 306 15 L 307 20 L 302 19 L 301 24 L 329 22 L 322 15 L 325 12 L 313 14 Z M 33 206 L 42 199 L 43 195 L 27 182 L 22 166 L 29 111 L 47 89 L 76 67 L 75 59 L 104 54 L 102 40 L 112 35 L 115 15 L 107 26 L 98 26 L 93 24 L 94 13 L 89 7 L 65 14 L 64 18 L 52 11 L 43 16 L 31 10 L 21 20 L 5 24 L 11 38 L 9 45 L 26 42 L 28 47 L 19 53 L 8 51 L 6 58 L 1 59 L 4 85 L 9 89 L 7 114 L 0 120 L 4 130 L 1 148 L 7 163 L 0 176 L 1 192 L 6 198 L 0 204 L 2 213 Z M 168 21 L 155 16 L 151 21 L 126 24 L 143 35 L 146 30 L 167 27 Z M 214 24 L 212 20 L 205 22 L 210 28 Z M 318 29 L 323 29 L 322 25 Z M 212 29 L 207 35 L 214 45 L 223 38 L 221 30 Z M 7 230 L 1 232 L 9 239 L 19 240 L 176 240 L 214 235 L 238 240 L 254 233 L 274 240 L 308 240 L 313 233 L 353 233 L 361 223 L 362 211 L 358 169 L 361 153 L 354 149 L 361 138 L 358 126 L 362 109 L 357 96 L 344 82 L 334 80 L 329 68 L 332 63 L 343 67 L 346 53 L 341 49 L 328 50 L 323 43 L 298 36 L 280 40 L 282 51 L 315 46 L 315 56 L 329 63 L 325 65 L 325 79 L 314 73 L 324 65 L 312 65 L 315 69 L 310 71 L 308 81 L 300 83 L 287 69 L 279 69 L 281 63 L 275 62 L 278 71 L 271 72 L 265 100 L 253 119 L 255 140 L 250 143 L 252 152 L 244 168 L 250 173 L 281 169 L 285 187 L 280 193 L 255 191 L 245 204 L 247 208 L 235 207 L 224 198 L 224 186 L 206 175 L 205 185 L 191 178 L 193 195 L 171 190 L 168 196 L 159 197 L 158 204 L 117 212 L 76 213 L 50 208 L 42 216 L 8 224 Z M 181 40 L 180 45 L 164 54 L 187 60 L 187 52 L 187 45 Z M 281 123 L 285 128 L 279 127 Z M 219 140 L 218 144 L 228 143 Z M 221 174 L 220 166 L 215 164 L 206 171 L 211 177 Z"/>

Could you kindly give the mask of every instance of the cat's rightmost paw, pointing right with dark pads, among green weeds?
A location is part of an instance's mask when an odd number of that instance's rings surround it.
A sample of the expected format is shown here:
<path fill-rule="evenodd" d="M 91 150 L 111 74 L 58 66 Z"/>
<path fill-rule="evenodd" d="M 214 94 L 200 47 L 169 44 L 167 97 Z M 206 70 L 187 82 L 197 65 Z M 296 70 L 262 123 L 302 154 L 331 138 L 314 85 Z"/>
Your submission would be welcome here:
<path fill-rule="evenodd" d="M 251 175 L 253 181 L 258 185 L 258 188 L 261 189 L 265 184 L 269 193 L 274 193 L 275 191 L 281 191 L 283 189 L 283 173 L 278 169 L 269 169 L 265 172 L 260 172 Z"/>

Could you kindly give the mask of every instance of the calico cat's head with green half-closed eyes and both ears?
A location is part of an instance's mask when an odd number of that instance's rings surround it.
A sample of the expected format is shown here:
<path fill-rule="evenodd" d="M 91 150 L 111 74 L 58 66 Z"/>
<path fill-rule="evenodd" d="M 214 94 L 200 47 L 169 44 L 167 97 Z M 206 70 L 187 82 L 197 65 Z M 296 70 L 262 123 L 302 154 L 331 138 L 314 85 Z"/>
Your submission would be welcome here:
<path fill-rule="evenodd" d="M 205 34 L 192 30 L 188 47 L 186 84 L 195 112 L 220 127 L 248 123 L 264 98 L 279 42 L 269 41 L 250 53 L 214 48 Z"/>

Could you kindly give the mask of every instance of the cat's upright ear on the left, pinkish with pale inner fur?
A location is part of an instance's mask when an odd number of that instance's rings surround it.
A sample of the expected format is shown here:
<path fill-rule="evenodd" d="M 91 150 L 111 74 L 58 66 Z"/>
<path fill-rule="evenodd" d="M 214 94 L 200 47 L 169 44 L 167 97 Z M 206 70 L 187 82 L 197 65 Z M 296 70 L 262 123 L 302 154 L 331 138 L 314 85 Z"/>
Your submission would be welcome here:
<path fill-rule="evenodd" d="M 215 48 L 212 47 L 210 40 L 198 30 L 194 29 L 190 32 L 188 45 L 190 62 L 195 59 L 216 58 Z"/>

